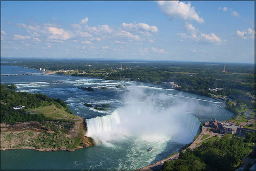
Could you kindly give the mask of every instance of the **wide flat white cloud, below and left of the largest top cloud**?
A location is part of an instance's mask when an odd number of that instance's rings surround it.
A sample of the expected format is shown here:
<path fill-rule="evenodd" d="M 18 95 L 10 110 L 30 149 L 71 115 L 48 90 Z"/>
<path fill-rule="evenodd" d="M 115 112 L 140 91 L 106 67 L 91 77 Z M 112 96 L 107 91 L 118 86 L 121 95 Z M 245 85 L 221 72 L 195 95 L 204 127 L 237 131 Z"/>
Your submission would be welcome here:
<path fill-rule="evenodd" d="M 152 35 L 151 33 L 158 32 L 158 28 L 156 26 L 150 26 L 146 23 L 138 23 L 138 24 L 122 23 L 121 26 L 128 31 L 135 31 L 144 35 Z"/>

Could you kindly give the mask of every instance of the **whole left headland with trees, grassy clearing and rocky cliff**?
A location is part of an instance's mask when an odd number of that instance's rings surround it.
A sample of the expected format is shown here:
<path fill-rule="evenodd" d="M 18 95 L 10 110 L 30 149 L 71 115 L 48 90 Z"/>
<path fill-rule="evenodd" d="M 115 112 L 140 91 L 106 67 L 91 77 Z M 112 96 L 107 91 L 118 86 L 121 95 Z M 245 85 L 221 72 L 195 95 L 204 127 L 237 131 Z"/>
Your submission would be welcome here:
<path fill-rule="evenodd" d="M 46 95 L 16 92 L 15 85 L 1 85 L 1 150 L 66 150 L 93 146 L 86 133 L 86 120 L 66 103 Z M 25 106 L 15 110 L 13 107 Z"/>

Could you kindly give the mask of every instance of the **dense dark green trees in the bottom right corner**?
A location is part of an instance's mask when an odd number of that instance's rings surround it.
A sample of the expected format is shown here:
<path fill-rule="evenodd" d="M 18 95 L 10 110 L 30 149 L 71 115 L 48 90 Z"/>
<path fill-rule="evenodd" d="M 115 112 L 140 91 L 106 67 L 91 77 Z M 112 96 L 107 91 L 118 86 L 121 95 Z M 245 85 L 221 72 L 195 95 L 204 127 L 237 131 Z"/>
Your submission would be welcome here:
<path fill-rule="evenodd" d="M 219 139 L 219 138 L 218 138 Z M 220 140 L 208 141 L 193 151 L 180 152 L 178 160 L 167 161 L 163 170 L 235 170 L 249 156 L 255 132 L 246 134 L 245 139 L 235 135 L 223 136 Z"/>

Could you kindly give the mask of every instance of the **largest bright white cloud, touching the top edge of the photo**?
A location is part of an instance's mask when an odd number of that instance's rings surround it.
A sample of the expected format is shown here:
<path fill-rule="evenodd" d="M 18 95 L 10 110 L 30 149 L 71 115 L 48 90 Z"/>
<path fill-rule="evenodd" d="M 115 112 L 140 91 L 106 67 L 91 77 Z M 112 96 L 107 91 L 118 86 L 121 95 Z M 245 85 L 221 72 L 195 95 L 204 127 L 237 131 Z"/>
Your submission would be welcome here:
<path fill-rule="evenodd" d="M 195 8 L 188 4 L 179 1 L 159 1 L 158 6 L 161 11 L 171 19 L 181 18 L 183 20 L 195 20 L 198 23 L 203 23 L 204 20 L 195 12 Z"/>

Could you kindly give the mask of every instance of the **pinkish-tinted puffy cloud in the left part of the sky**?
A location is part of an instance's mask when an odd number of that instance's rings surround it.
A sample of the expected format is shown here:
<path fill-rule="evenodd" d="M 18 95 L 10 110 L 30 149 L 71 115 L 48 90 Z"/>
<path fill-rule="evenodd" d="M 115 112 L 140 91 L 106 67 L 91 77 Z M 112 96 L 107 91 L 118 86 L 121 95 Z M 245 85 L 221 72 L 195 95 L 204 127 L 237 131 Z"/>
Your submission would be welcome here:
<path fill-rule="evenodd" d="M 55 39 L 55 40 L 68 40 L 73 37 L 73 33 L 70 31 L 65 31 L 62 28 L 55 28 L 55 27 L 47 27 L 47 30 L 49 31 L 50 39 Z"/>

